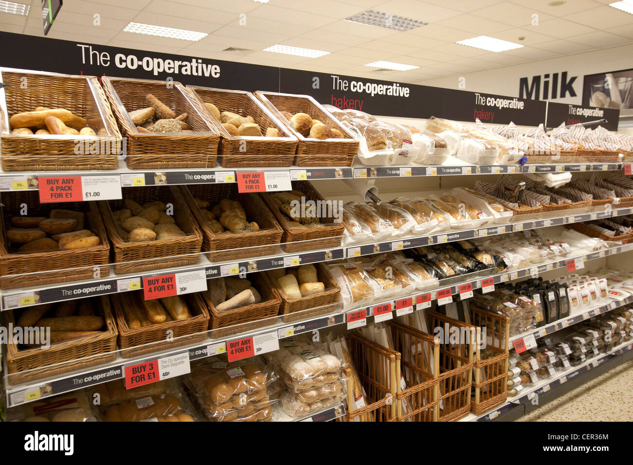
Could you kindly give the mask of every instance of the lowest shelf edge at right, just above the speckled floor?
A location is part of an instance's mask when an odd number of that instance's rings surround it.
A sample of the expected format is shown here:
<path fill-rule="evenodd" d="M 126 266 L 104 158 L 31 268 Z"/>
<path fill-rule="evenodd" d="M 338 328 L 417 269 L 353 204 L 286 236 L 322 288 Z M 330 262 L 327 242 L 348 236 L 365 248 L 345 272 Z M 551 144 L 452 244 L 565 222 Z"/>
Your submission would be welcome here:
<path fill-rule="evenodd" d="M 552 378 L 539 381 L 539 383 L 535 383 L 529 388 L 522 390 L 521 395 L 509 398 L 505 404 L 496 407 L 496 409 L 492 409 L 491 411 L 484 412 L 480 415 L 471 413 L 465 418 L 462 418 L 460 421 L 492 421 L 503 414 L 507 414 L 514 409 L 522 407 L 525 404 L 531 404 L 532 400 L 537 399 L 538 395 L 543 395 L 553 390 L 555 391 L 557 388 L 565 385 L 565 383 L 569 380 L 583 377 L 586 378 L 583 382 L 589 381 L 593 378 L 593 375 L 589 375 L 589 373 L 592 373 L 592 369 L 603 365 L 616 357 L 622 356 L 625 353 L 631 352 L 632 350 L 632 342 L 620 344 L 618 347 L 614 347 L 610 352 L 599 354 L 596 357 L 587 359 L 587 361 L 583 364 L 572 366 L 564 371 L 556 371 L 556 375 Z"/>

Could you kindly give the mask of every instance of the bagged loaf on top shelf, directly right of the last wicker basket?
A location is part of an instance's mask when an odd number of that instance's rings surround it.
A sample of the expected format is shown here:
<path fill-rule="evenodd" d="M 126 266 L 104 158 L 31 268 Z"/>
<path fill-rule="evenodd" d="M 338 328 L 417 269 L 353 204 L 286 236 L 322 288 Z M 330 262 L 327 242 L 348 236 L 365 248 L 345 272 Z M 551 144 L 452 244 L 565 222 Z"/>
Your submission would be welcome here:
<path fill-rule="evenodd" d="M 342 121 L 342 125 L 360 142 L 356 159 L 366 166 L 385 166 L 390 164 L 394 150 L 380 128 L 360 118 Z"/>

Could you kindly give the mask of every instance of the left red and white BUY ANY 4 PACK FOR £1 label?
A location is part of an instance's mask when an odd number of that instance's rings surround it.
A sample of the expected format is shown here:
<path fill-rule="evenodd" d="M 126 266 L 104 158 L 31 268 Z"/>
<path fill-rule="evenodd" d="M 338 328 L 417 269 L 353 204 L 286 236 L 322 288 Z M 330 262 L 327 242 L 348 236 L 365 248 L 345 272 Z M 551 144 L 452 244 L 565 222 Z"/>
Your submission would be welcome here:
<path fill-rule="evenodd" d="M 121 199 L 121 177 L 39 177 L 41 203 Z"/>

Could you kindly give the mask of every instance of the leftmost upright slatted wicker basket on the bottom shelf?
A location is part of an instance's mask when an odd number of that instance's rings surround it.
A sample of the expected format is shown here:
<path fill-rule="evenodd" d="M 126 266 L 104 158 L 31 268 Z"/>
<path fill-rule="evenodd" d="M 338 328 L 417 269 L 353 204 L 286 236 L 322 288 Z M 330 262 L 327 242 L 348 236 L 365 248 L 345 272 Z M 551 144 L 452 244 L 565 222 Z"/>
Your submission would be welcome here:
<path fill-rule="evenodd" d="M 374 344 L 358 333 L 348 334 L 346 342 L 367 399 L 366 406 L 356 408 L 348 378 L 347 421 L 397 421 L 400 352 Z"/>

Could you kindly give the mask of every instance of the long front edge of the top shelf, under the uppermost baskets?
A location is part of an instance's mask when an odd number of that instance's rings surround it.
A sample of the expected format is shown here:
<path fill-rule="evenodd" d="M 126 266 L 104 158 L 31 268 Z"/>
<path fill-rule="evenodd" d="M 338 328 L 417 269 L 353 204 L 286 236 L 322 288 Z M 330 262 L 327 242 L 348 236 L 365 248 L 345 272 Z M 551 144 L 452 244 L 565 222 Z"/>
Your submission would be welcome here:
<path fill-rule="evenodd" d="M 630 168 L 630 164 L 628 164 Z M 290 168 L 234 168 L 225 169 L 220 165 L 208 168 L 167 169 L 167 170 L 130 170 L 123 159 L 119 159 L 116 170 L 86 171 L 0 171 L 0 191 L 37 189 L 38 177 L 120 177 L 123 187 L 141 187 L 145 185 L 182 185 L 202 183 L 236 182 L 235 173 L 259 171 L 287 171 L 292 180 L 324 180 L 346 178 L 393 178 L 426 177 L 455 175 L 491 175 L 513 173 L 557 173 L 562 171 L 616 171 L 622 170 L 622 163 L 599 164 L 501 164 L 501 165 L 439 165 L 439 166 L 310 166 Z"/>

